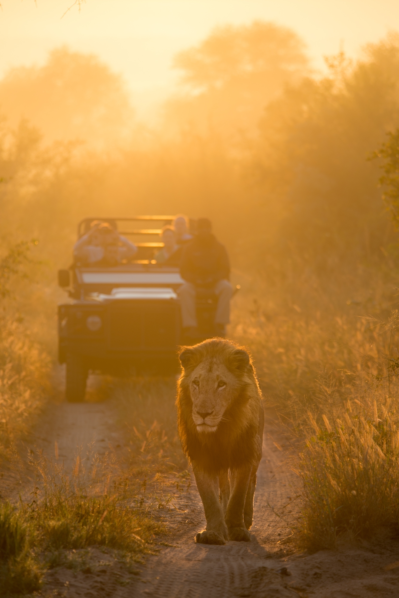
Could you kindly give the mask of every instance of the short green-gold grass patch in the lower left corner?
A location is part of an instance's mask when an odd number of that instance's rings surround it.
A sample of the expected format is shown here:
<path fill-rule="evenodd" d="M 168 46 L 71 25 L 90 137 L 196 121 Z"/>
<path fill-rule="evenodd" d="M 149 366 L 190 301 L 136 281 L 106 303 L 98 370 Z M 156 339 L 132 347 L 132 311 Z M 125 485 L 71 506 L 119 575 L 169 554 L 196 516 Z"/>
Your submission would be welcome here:
<path fill-rule="evenodd" d="M 153 551 L 154 517 L 159 502 L 133 471 L 90 452 L 76 455 L 72 472 L 46 457 L 30 457 L 35 486 L 18 508 L 0 505 L 0 572 L 5 594 L 26 594 L 41 587 L 45 570 L 72 563 L 69 549 L 97 545 L 117 551 L 126 563 Z M 162 491 L 161 491 L 162 493 Z M 79 553 L 81 554 L 81 553 Z M 81 554 L 82 556 L 82 554 Z M 85 560 L 81 566 L 87 568 Z"/>

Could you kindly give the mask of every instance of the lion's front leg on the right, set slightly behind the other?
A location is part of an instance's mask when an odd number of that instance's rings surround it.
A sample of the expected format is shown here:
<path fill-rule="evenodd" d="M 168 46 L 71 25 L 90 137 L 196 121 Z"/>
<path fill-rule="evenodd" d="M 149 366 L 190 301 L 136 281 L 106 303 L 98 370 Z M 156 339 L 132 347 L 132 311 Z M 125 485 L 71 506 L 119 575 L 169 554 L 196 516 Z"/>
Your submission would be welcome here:
<path fill-rule="evenodd" d="M 225 521 L 229 538 L 238 542 L 249 542 L 251 535 L 244 523 L 244 505 L 251 477 L 251 466 L 230 472 L 231 495 L 227 505 Z"/>

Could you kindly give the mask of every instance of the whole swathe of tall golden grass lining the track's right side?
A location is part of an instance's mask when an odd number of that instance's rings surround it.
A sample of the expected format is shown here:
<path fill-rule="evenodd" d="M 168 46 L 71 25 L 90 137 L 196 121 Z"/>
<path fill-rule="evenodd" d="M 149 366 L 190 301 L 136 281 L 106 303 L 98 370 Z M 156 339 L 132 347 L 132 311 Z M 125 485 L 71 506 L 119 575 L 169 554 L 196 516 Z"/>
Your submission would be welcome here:
<path fill-rule="evenodd" d="M 232 330 L 298 447 L 297 545 L 332 548 L 397 524 L 399 315 L 394 271 L 241 297 Z"/>

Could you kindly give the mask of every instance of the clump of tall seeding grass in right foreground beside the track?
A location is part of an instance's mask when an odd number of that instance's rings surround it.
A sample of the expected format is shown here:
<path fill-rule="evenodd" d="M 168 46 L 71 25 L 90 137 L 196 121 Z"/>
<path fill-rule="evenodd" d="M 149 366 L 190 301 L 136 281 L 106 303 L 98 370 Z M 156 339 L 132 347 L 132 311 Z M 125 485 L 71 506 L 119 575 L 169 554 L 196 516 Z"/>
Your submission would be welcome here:
<path fill-rule="evenodd" d="M 309 413 L 297 466 L 302 547 L 332 548 L 343 533 L 370 538 L 382 525 L 397 525 L 399 416 L 396 397 L 383 390 L 367 384 L 340 409 L 327 401 L 320 423 Z"/>

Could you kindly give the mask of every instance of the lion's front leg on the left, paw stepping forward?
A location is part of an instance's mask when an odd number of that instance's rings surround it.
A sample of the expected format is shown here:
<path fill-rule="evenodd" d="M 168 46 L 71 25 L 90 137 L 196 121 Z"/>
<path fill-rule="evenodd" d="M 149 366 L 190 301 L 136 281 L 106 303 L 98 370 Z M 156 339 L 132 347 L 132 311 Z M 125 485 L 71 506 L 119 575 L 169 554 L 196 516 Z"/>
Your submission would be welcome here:
<path fill-rule="evenodd" d="M 199 544 L 226 544 L 229 535 L 219 502 L 219 477 L 201 471 L 194 463 L 193 469 L 207 520 L 207 527 L 204 532 L 197 533 L 195 541 Z"/>

